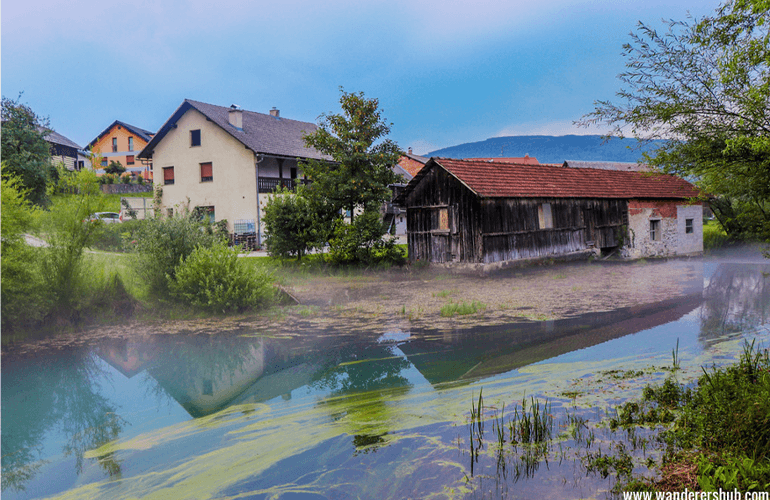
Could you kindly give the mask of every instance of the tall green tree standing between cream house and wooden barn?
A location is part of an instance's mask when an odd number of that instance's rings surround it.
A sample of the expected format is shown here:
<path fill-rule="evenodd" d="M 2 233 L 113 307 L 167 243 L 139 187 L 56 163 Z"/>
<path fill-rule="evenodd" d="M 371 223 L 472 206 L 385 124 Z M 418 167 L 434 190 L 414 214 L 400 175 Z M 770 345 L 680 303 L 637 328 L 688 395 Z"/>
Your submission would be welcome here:
<path fill-rule="evenodd" d="M 389 184 L 398 181 L 392 167 L 401 150 L 390 139 L 390 125 L 382 118 L 377 99 L 363 92 L 340 88 L 342 114 L 321 115 L 320 125 L 305 136 L 305 145 L 328 155 L 335 162 L 309 160 L 302 168 L 313 181 L 307 190 L 333 212 L 342 209 L 379 210 L 391 197 Z M 384 140 L 383 140 L 384 139 Z"/>

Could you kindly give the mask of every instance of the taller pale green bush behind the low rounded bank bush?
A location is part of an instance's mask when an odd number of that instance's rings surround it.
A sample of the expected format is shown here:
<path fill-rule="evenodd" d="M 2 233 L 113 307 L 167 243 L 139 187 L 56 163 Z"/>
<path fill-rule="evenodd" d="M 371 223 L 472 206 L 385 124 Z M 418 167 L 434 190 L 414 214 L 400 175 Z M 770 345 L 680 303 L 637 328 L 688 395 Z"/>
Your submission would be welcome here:
<path fill-rule="evenodd" d="M 208 248 L 219 240 L 221 236 L 214 233 L 211 224 L 202 223 L 188 211 L 145 219 L 138 225 L 136 251 L 140 255 L 139 274 L 150 294 L 164 296 L 182 259 L 197 247 Z"/>

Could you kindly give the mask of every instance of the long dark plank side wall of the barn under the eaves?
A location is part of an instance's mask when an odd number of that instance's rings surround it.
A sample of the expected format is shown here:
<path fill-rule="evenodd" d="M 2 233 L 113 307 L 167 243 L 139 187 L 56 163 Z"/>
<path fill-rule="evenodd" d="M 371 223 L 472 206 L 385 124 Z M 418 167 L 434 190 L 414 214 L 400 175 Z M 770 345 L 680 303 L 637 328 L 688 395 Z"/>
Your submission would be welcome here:
<path fill-rule="evenodd" d="M 540 229 L 538 207 L 551 206 L 553 227 Z M 491 263 L 618 246 L 625 200 L 488 198 L 482 205 L 482 259 Z"/>

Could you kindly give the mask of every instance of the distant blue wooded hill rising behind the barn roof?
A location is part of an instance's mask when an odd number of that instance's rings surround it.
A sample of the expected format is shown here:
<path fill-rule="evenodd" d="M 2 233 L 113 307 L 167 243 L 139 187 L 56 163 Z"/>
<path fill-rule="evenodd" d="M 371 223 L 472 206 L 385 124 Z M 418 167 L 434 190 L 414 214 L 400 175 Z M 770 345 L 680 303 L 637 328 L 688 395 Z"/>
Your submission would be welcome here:
<path fill-rule="evenodd" d="M 655 149 L 665 141 L 653 141 L 636 149 L 636 139 L 613 137 L 604 142 L 599 135 L 517 135 L 493 137 L 431 151 L 424 156 L 445 158 L 493 158 L 498 156 L 534 156 L 540 163 L 562 163 L 564 160 L 637 162 L 642 152 Z M 503 152 L 501 155 L 500 152 Z"/>

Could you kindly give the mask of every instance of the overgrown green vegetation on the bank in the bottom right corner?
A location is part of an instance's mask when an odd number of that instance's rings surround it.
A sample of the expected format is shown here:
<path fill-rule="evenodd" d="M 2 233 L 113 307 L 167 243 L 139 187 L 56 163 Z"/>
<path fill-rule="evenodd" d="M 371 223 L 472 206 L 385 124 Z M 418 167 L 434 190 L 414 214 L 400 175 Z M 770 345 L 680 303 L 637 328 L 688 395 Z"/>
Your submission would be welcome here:
<path fill-rule="evenodd" d="M 640 402 L 626 403 L 610 420 L 613 428 L 669 423 L 662 433 L 666 451 L 656 489 L 770 490 L 768 350 L 746 344 L 738 363 L 704 369 L 695 388 L 670 378 L 647 387 Z M 693 472 L 697 485 L 682 482 L 675 472 L 683 469 Z M 652 482 L 626 487 L 649 489 Z"/>

